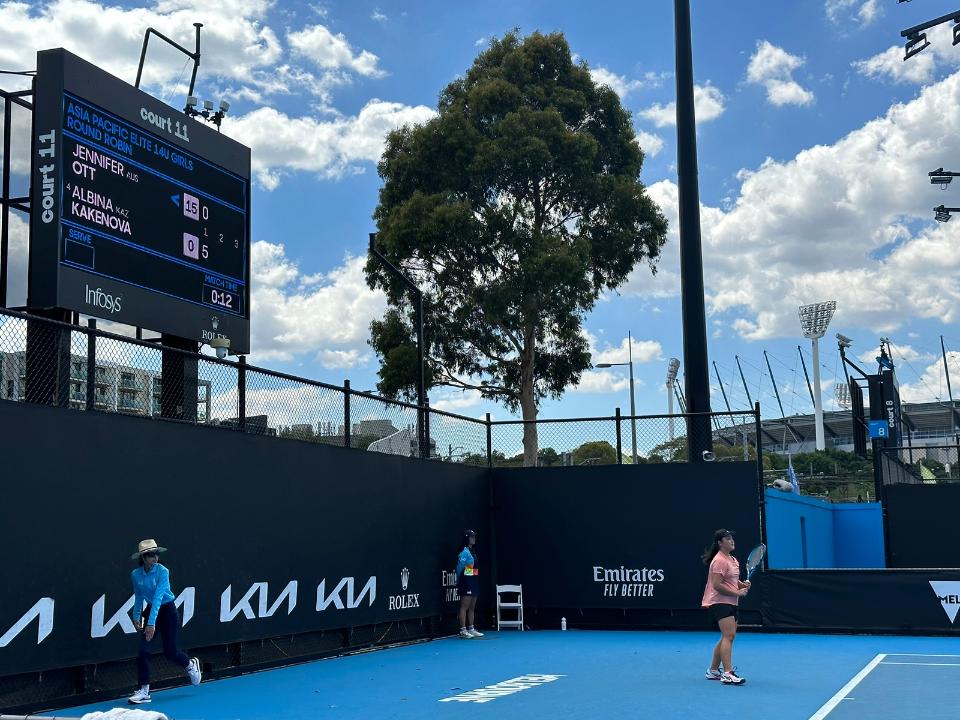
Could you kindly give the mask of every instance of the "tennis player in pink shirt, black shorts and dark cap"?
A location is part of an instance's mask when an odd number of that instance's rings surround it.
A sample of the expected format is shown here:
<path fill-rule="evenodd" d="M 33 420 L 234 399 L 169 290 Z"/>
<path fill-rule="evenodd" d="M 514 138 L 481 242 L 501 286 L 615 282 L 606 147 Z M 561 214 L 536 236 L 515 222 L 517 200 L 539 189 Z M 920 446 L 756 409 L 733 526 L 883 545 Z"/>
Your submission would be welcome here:
<path fill-rule="evenodd" d="M 707 670 L 707 680 L 719 680 L 724 685 L 743 685 L 746 680 L 734 671 L 733 640 L 737 636 L 737 608 L 740 598 L 750 591 L 750 583 L 740 580 L 740 563 L 732 555 L 736 543 L 729 530 L 717 530 L 713 543 L 703 552 L 703 564 L 709 565 L 707 585 L 703 589 L 702 607 L 710 611 L 710 618 L 720 626 L 720 640 L 713 648 L 713 659 Z M 723 671 L 720 665 L 723 664 Z"/>

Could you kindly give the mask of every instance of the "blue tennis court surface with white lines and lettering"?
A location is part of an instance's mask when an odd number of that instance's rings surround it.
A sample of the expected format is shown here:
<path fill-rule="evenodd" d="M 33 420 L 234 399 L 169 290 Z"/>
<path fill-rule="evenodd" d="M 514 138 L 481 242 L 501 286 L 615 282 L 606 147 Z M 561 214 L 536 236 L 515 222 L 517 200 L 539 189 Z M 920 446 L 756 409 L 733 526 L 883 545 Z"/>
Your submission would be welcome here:
<path fill-rule="evenodd" d="M 160 691 L 139 707 L 175 720 L 960 717 L 957 639 L 741 633 L 741 687 L 704 679 L 716 639 L 490 632 Z"/>

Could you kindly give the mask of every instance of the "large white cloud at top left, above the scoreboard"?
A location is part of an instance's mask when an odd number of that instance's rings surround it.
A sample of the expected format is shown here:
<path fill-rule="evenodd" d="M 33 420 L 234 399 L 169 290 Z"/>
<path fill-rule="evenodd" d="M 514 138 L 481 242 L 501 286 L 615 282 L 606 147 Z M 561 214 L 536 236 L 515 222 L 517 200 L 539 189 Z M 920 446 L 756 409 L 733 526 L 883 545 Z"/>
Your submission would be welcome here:
<path fill-rule="evenodd" d="M 272 0 L 154 0 L 135 8 L 91 0 L 5 2 L 0 4 L 0 66 L 30 69 L 35 67 L 37 48 L 65 47 L 132 83 L 147 27 L 193 47 L 193 23 L 202 22 L 203 61 L 196 94 L 204 97 L 263 104 L 267 98 L 311 94 L 318 109 L 330 112 L 334 88 L 356 76 L 385 74 L 376 55 L 355 51 L 347 38 L 323 25 L 278 33 L 268 24 L 268 11 L 274 6 Z M 143 86 L 161 100 L 179 105 L 189 77 L 184 56 L 154 38 Z"/>

